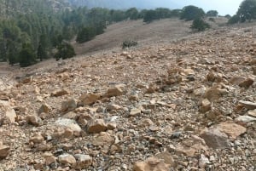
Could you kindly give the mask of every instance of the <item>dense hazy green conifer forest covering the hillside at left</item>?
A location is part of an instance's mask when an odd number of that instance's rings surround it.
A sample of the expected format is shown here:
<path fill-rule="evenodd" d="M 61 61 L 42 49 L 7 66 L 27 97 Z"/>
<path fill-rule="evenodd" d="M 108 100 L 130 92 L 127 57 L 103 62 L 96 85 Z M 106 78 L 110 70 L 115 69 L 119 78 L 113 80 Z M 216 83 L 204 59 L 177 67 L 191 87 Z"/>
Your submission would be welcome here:
<path fill-rule="evenodd" d="M 71 40 L 90 41 L 110 23 L 143 18 L 148 22 L 179 13 L 170 9 L 71 8 L 67 3 L 39 0 L 1 0 L 0 3 L 0 60 L 20 66 L 51 57 L 56 60 L 72 57 L 74 51 L 68 44 Z"/>

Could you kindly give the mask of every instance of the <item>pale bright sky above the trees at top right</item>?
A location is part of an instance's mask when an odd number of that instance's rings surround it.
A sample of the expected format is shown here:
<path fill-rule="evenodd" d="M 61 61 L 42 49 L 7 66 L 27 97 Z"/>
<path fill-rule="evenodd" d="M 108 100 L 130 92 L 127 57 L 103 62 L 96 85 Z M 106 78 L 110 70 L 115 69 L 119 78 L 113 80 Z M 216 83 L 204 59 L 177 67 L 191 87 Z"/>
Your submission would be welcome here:
<path fill-rule="evenodd" d="M 171 0 L 170 0 L 171 1 Z M 177 1 L 182 6 L 186 5 L 195 5 L 197 7 L 201 7 L 206 12 L 208 10 L 214 9 L 218 11 L 218 14 L 236 14 L 239 5 L 242 0 L 179 0 Z"/>

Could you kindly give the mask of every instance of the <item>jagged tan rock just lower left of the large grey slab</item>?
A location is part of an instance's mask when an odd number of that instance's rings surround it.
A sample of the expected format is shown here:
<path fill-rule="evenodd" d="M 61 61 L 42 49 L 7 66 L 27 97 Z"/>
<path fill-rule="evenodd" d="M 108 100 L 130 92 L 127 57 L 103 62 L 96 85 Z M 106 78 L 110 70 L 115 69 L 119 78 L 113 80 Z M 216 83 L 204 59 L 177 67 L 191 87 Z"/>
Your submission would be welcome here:
<path fill-rule="evenodd" d="M 195 152 L 201 150 L 207 151 L 208 147 L 205 140 L 196 135 L 192 135 L 188 140 L 183 140 L 174 150 L 177 151 L 177 153 L 183 153 L 188 157 L 194 157 Z"/>

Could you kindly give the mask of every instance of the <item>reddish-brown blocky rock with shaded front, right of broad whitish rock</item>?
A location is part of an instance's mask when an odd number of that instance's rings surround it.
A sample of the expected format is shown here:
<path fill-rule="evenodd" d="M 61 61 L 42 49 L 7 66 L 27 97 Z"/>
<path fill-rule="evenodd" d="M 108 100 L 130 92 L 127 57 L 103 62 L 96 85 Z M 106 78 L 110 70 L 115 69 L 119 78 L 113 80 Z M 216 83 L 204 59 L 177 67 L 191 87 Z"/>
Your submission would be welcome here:
<path fill-rule="evenodd" d="M 91 119 L 87 123 L 87 131 L 88 133 L 101 133 L 102 131 L 107 130 L 107 125 L 102 119 Z"/>

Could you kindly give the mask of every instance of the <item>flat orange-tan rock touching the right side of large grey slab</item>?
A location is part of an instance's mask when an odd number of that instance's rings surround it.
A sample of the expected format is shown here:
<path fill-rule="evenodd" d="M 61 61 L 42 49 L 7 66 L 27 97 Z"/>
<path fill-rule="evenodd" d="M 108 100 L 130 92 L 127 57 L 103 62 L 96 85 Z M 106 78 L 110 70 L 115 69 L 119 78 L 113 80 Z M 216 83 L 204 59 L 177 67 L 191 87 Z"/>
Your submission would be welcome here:
<path fill-rule="evenodd" d="M 247 131 L 247 128 L 233 122 L 219 123 L 216 128 L 224 134 L 229 135 L 233 140 L 236 140 L 239 135 L 244 134 Z"/>

